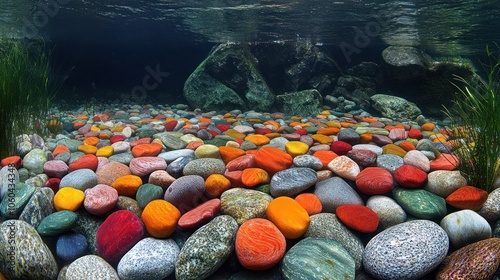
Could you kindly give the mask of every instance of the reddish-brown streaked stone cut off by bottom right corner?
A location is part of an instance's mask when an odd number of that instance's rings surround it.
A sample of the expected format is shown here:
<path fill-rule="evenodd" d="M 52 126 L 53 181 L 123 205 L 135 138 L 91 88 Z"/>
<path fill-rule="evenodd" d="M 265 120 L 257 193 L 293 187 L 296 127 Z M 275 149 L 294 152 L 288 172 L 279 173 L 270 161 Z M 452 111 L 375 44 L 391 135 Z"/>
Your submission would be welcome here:
<path fill-rule="evenodd" d="M 499 265 L 500 238 L 488 238 L 462 247 L 446 257 L 436 280 L 492 279 Z"/>

